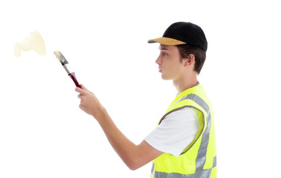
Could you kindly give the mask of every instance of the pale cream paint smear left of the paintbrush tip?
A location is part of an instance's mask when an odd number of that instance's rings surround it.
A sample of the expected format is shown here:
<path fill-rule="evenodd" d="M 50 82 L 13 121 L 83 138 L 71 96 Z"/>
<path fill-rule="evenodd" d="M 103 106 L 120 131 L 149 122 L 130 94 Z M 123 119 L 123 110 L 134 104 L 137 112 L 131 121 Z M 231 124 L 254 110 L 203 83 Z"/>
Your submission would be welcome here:
<path fill-rule="evenodd" d="M 46 55 L 45 43 L 42 36 L 37 31 L 30 32 L 31 38 L 25 38 L 22 43 L 16 43 L 14 47 L 14 53 L 16 57 L 19 57 L 21 50 L 28 51 L 34 50 L 40 55 Z"/>

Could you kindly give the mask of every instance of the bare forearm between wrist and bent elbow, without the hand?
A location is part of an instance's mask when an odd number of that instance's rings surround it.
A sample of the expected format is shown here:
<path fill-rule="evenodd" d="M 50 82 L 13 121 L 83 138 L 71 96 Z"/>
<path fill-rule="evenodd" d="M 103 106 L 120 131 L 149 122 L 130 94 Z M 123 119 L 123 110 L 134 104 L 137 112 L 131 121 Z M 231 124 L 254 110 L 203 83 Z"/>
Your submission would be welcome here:
<path fill-rule="evenodd" d="M 113 123 L 106 109 L 99 118 L 96 118 L 102 127 L 108 141 L 122 161 L 133 169 L 137 156 L 137 145 L 130 141 Z"/>

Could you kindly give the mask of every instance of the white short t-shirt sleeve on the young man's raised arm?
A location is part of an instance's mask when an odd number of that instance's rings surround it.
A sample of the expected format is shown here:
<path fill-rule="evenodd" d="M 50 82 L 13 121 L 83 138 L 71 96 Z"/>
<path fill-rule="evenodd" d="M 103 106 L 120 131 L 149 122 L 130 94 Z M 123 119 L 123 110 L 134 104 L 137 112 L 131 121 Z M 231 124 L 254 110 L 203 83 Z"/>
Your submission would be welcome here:
<path fill-rule="evenodd" d="M 144 140 L 154 149 L 179 156 L 200 130 L 200 114 L 200 111 L 190 107 L 171 112 Z"/>

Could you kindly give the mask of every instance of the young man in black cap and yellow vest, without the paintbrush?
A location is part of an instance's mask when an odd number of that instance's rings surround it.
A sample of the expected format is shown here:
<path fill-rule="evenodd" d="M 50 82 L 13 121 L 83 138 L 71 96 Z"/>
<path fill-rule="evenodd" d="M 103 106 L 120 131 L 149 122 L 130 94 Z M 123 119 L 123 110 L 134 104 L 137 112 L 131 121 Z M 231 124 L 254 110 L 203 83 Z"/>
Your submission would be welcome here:
<path fill-rule="evenodd" d="M 132 170 L 153 160 L 151 177 L 216 177 L 213 111 L 197 81 L 205 61 L 207 40 L 190 22 L 171 24 L 160 43 L 155 61 L 164 80 L 173 80 L 178 92 L 158 126 L 136 145 L 115 126 L 97 97 L 76 87 L 79 107 L 96 118 L 110 144 Z"/>

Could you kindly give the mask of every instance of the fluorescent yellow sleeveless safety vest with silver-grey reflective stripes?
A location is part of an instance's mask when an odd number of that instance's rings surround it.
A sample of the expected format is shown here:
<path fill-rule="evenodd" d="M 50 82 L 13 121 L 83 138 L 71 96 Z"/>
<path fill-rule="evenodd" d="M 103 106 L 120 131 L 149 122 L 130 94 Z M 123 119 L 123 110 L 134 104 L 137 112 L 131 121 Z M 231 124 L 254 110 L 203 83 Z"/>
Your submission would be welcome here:
<path fill-rule="evenodd" d="M 151 178 L 216 177 L 213 110 L 199 82 L 176 96 L 159 124 L 166 115 L 184 107 L 192 107 L 202 113 L 199 118 L 200 130 L 179 156 L 164 153 L 155 158 L 152 161 Z"/>

